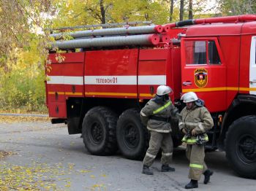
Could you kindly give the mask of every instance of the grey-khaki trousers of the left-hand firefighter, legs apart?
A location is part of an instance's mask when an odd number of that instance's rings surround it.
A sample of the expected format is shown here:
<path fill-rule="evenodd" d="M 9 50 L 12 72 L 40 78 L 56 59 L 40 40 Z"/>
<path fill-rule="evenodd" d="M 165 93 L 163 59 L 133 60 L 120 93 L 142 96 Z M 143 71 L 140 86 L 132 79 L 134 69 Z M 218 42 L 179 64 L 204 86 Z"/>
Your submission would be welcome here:
<path fill-rule="evenodd" d="M 170 133 L 158 133 L 150 131 L 149 147 L 143 160 L 143 165 L 151 166 L 157 157 L 159 149 L 162 149 L 161 163 L 168 165 L 173 158 L 173 139 Z"/>

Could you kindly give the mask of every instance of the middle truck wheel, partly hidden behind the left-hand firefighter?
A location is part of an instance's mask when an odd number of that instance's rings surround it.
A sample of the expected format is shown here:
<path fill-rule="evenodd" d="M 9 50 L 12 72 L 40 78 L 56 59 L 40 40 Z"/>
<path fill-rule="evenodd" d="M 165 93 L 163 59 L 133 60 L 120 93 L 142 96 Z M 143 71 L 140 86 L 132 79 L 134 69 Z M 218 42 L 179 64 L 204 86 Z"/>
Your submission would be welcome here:
<path fill-rule="evenodd" d="M 138 109 L 127 109 L 117 122 L 116 139 L 124 157 L 141 160 L 148 149 L 149 133 L 140 121 Z"/>

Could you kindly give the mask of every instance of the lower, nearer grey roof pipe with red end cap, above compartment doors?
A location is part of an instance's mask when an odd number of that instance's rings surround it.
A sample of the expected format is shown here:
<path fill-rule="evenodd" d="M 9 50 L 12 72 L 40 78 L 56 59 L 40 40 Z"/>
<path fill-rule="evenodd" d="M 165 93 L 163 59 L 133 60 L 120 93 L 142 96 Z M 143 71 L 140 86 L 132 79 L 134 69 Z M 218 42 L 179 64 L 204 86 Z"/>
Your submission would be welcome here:
<path fill-rule="evenodd" d="M 107 36 L 99 38 L 73 39 L 69 41 L 56 41 L 50 43 L 50 48 L 58 47 L 60 50 L 89 47 L 115 47 L 127 45 L 159 44 L 158 34 L 139 34 L 132 36 Z"/>

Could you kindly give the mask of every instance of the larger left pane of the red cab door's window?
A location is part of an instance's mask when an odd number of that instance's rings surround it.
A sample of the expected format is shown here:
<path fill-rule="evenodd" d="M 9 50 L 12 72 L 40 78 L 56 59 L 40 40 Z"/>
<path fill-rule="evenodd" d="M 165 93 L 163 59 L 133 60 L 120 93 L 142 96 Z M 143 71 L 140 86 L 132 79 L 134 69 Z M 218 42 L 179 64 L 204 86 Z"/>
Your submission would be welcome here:
<path fill-rule="evenodd" d="M 185 42 L 186 63 L 206 64 L 206 41 Z"/>

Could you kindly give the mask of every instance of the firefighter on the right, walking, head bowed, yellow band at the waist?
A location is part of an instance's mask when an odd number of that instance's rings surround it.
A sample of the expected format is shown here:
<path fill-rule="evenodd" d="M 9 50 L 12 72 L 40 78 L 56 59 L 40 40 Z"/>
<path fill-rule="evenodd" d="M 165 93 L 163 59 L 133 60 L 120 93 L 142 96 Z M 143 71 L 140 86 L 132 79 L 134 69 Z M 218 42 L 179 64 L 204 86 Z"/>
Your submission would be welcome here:
<path fill-rule="evenodd" d="M 195 93 L 185 93 L 181 96 L 181 100 L 186 103 L 186 107 L 181 111 L 178 126 L 185 134 L 182 141 L 187 144 L 186 155 L 189 160 L 189 179 L 191 179 L 185 188 L 192 189 L 198 187 L 201 174 L 205 176 L 204 184 L 210 181 L 210 176 L 213 174 L 204 162 L 204 144 L 208 141 L 206 131 L 213 127 L 214 122 L 211 114 L 204 107 L 204 101 L 197 98 Z"/>

